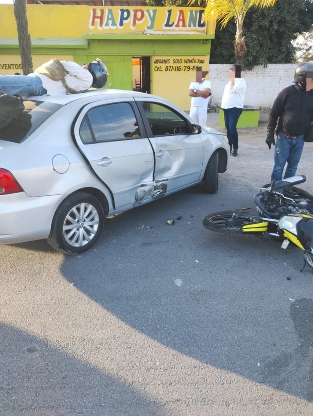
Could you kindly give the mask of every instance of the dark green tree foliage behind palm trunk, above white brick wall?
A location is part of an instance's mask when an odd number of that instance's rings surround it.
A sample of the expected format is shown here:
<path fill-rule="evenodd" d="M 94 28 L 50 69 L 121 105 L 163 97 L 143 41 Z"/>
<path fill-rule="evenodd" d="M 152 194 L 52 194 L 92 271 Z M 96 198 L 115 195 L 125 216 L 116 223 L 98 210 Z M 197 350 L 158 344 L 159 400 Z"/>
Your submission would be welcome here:
<path fill-rule="evenodd" d="M 243 27 L 246 40 L 244 67 L 252 69 L 256 65 L 294 62 L 296 50 L 291 42 L 297 33 L 308 32 L 312 22 L 312 0 L 278 0 L 273 7 L 251 8 L 246 14 Z M 233 21 L 224 29 L 217 25 L 215 39 L 211 44 L 211 63 L 234 62 L 235 33 Z"/>

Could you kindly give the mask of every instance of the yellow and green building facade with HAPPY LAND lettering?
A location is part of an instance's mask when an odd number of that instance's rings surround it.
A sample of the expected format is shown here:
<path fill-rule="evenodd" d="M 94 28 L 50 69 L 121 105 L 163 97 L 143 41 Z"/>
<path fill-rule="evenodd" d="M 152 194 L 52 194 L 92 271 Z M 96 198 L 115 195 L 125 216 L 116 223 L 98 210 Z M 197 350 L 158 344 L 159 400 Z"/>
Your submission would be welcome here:
<path fill-rule="evenodd" d="M 209 70 L 215 22 L 197 7 L 27 5 L 34 69 L 52 58 L 79 64 L 99 57 L 106 88 L 159 95 L 182 109 L 197 66 Z M 21 73 L 13 5 L 0 5 L 0 75 Z"/>

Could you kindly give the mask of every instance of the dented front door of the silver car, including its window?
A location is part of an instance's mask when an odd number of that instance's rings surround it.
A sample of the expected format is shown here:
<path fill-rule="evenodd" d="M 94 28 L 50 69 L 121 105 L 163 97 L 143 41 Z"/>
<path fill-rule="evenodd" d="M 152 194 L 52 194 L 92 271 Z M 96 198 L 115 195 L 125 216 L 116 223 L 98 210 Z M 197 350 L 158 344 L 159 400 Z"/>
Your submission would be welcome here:
<path fill-rule="evenodd" d="M 135 98 L 148 125 L 148 137 L 155 151 L 155 186 L 152 198 L 183 189 L 200 181 L 203 144 L 192 133 L 191 123 L 167 104 Z"/>

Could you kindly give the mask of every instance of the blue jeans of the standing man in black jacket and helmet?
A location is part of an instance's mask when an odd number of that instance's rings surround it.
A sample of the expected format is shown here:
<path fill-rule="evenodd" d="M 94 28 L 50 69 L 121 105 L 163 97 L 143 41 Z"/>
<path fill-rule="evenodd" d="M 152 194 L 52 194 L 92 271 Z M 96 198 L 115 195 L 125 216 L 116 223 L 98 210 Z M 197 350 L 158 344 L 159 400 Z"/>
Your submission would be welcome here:
<path fill-rule="evenodd" d="M 288 139 L 283 133 L 278 132 L 275 143 L 274 169 L 271 181 L 281 181 L 282 178 L 291 178 L 296 175 L 299 160 L 301 158 L 304 145 L 304 134 L 296 136 L 296 139 Z M 283 168 L 287 164 L 286 172 L 283 177 Z"/>

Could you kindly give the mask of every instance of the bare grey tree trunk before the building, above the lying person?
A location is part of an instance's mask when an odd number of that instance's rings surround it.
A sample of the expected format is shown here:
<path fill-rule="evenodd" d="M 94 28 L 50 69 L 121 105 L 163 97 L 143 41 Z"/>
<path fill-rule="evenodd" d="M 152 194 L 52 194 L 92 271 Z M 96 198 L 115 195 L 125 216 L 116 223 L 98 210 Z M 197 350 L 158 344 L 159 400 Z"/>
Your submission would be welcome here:
<path fill-rule="evenodd" d="M 28 32 L 28 21 L 26 15 L 26 0 L 13 0 L 14 16 L 17 26 L 18 45 L 22 60 L 24 75 L 33 72 L 32 69 L 32 42 Z"/>

